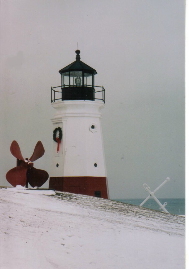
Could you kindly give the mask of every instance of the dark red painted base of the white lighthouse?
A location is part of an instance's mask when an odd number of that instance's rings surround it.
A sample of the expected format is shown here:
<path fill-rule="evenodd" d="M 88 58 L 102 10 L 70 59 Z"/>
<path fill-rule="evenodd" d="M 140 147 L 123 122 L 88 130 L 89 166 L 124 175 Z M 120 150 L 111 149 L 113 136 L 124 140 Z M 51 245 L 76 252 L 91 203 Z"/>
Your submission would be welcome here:
<path fill-rule="evenodd" d="M 50 177 L 49 188 L 108 199 L 106 177 Z"/>

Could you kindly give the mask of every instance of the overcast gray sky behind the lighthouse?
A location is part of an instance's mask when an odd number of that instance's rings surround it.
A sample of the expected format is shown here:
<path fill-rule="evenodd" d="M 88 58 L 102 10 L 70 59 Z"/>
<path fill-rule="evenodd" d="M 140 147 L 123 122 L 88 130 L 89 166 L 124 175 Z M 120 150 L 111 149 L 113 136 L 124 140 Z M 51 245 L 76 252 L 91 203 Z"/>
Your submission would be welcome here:
<path fill-rule="evenodd" d="M 102 129 L 110 198 L 184 197 L 184 23 L 178 0 L 0 0 L 1 184 L 15 166 L 17 140 L 48 172 L 52 153 L 51 86 L 75 60 L 96 69 L 106 89 Z M 48 184 L 46 184 L 46 187 Z"/>

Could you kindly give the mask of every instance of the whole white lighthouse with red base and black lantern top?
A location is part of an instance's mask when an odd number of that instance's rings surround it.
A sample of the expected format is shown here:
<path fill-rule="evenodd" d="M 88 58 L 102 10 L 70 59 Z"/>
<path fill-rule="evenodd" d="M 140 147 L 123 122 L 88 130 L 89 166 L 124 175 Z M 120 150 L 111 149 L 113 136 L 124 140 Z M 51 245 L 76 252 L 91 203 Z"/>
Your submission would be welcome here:
<path fill-rule="evenodd" d="M 51 87 L 53 155 L 49 188 L 109 198 L 101 128 L 105 89 L 95 86 L 96 70 L 80 60 L 59 70 Z"/>

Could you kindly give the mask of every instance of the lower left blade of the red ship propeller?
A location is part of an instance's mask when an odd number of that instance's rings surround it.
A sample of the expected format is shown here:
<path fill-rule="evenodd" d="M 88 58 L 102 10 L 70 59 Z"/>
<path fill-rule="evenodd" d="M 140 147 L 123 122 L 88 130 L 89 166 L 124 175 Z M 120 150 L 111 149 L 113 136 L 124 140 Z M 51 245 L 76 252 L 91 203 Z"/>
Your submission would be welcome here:
<path fill-rule="evenodd" d="M 27 179 L 27 170 L 27 167 L 16 166 L 7 172 L 6 179 L 13 187 L 16 187 L 16 185 L 22 185 L 24 187 Z"/>

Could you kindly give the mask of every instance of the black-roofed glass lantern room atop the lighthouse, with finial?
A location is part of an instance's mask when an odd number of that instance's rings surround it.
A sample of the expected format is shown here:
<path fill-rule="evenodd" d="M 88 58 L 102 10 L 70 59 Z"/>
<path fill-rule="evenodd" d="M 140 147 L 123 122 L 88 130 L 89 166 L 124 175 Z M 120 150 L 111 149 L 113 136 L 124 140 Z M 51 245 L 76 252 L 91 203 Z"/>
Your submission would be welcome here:
<path fill-rule="evenodd" d="M 76 51 L 76 61 L 59 70 L 62 76 L 62 100 L 94 100 L 94 75 L 96 70 L 80 60 Z"/>

